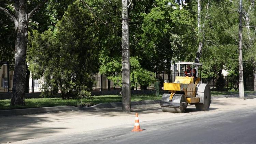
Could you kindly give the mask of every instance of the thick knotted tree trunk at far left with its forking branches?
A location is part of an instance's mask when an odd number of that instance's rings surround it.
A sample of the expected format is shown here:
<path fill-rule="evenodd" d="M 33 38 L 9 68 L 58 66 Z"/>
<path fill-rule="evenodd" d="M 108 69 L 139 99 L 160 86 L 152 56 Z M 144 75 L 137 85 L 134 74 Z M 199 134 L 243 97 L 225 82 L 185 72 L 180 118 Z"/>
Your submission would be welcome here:
<path fill-rule="evenodd" d="M 27 13 L 27 0 L 15 0 L 15 15 L 0 6 L 0 10 L 11 18 L 15 25 L 15 52 L 14 52 L 14 74 L 13 74 L 13 93 L 11 105 L 25 105 L 26 90 L 26 55 L 28 43 L 28 20 L 44 3 L 42 0 L 30 13 Z"/>

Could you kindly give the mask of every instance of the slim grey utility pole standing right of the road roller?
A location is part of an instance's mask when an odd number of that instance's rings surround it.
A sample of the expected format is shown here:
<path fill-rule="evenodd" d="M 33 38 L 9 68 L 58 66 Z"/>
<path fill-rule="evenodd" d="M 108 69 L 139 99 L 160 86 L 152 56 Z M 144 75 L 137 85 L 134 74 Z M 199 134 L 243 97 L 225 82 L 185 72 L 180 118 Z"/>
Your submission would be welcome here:
<path fill-rule="evenodd" d="M 244 100 L 243 52 L 242 52 L 242 0 L 239 1 L 239 98 Z"/>

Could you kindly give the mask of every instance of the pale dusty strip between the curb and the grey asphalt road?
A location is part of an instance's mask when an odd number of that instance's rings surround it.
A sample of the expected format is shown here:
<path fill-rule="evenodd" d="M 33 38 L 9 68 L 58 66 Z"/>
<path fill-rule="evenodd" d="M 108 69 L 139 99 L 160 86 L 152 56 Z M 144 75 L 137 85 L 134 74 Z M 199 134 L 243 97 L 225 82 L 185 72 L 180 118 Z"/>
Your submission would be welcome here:
<path fill-rule="evenodd" d="M 227 112 L 242 107 L 256 106 L 255 98 L 250 96 L 246 100 L 238 98 L 212 99 L 209 111 L 196 111 L 194 105 L 188 105 L 186 112 L 183 114 L 164 113 L 161 111 L 159 104 L 148 104 L 134 105 L 131 113 L 123 113 L 121 107 L 115 107 L 89 111 L 0 117 L 0 143 L 82 131 L 93 133 L 93 130 L 114 126 L 120 126 L 120 128 L 125 126 L 132 129 L 136 112 L 139 113 L 140 124 L 143 126 L 145 121 L 167 118 L 173 120 L 180 116 Z"/>

